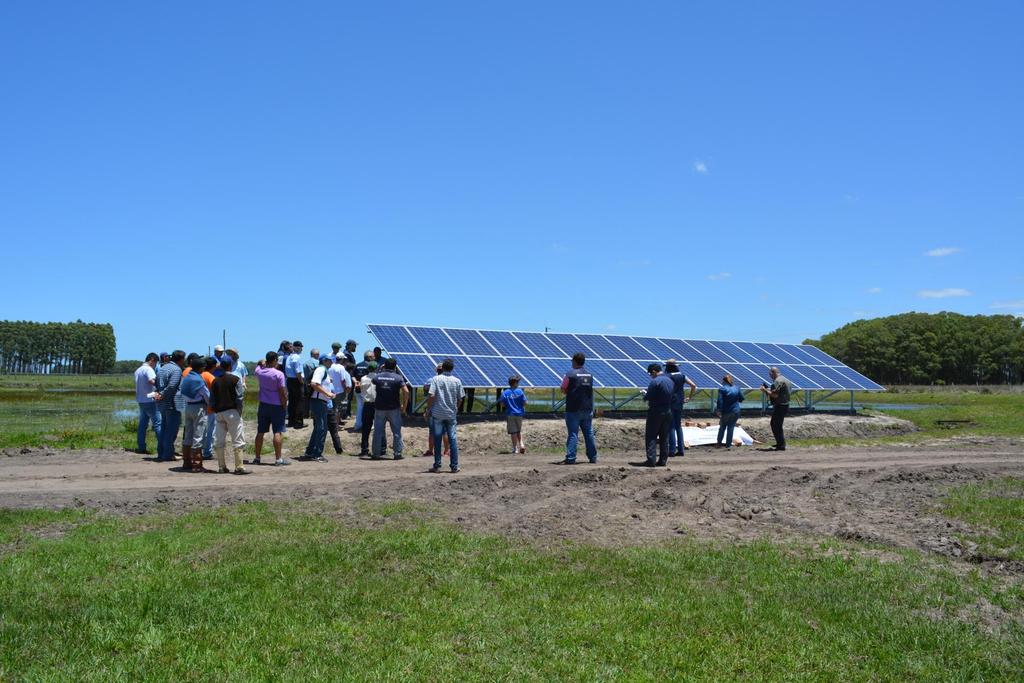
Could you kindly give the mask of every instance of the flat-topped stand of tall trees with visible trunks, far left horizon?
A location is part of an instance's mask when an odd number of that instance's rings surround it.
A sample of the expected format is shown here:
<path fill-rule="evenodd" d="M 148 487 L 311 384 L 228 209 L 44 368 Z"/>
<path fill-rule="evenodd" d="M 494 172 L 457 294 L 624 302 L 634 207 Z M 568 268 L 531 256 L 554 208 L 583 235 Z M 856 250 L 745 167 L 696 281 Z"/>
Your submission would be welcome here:
<path fill-rule="evenodd" d="M 116 357 L 105 323 L 0 321 L 0 372 L 99 374 L 113 370 Z"/>

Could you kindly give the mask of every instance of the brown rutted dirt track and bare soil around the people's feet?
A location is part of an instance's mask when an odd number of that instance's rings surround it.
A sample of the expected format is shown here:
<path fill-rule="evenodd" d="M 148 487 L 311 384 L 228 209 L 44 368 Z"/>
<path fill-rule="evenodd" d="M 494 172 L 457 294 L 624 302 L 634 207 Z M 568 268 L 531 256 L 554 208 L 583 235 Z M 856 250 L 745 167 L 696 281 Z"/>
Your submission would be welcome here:
<path fill-rule="evenodd" d="M 756 438 L 766 436 L 764 420 L 741 424 Z M 417 457 L 426 443 L 422 424 L 403 429 L 402 461 L 335 456 L 329 440 L 328 463 L 256 466 L 245 477 L 183 473 L 179 464 L 125 452 L 7 450 L 0 457 L 0 506 L 85 506 L 132 514 L 167 506 L 309 501 L 358 514 L 360 502 L 412 501 L 469 529 L 541 543 L 624 545 L 680 535 L 834 537 L 1024 573 L 1020 562 L 981 555 L 963 540 L 972 529 L 937 511 L 951 486 L 1024 476 L 1024 439 L 807 449 L 800 446 L 801 437 L 893 434 L 912 426 L 892 418 L 820 415 L 796 417 L 786 426 L 793 443 L 785 453 L 701 446 L 655 469 L 631 464 L 643 459 L 643 421 L 635 419 L 598 420 L 598 464 L 581 458 L 574 466 L 555 464 L 564 443 L 557 420 L 527 422 L 527 454 L 519 456 L 507 453 L 503 423 L 462 424 L 459 474 L 447 473 L 446 462 L 444 473 L 426 472 L 430 459 Z M 290 431 L 286 453 L 299 455 L 309 431 Z M 344 447 L 357 453 L 357 436 L 344 433 Z M 247 460 L 249 454 L 251 449 Z"/>

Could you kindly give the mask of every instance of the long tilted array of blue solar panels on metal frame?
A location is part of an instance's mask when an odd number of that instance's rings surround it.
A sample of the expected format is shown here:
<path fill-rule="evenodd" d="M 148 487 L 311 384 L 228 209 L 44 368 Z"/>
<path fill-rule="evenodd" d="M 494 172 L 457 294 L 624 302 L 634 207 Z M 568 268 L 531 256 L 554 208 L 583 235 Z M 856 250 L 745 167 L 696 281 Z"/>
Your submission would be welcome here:
<path fill-rule="evenodd" d="M 647 366 L 675 358 L 701 389 L 721 385 L 729 373 L 745 388 L 770 382 L 768 369 L 797 389 L 883 391 L 857 371 L 807 344 L 706 341 L 626 335 L 503 332 L 458 328 L 370 325 L 385 353 L 414 385 L 435 374 L 438 362 L 455 360 L 455 376 L 465 386 L 504 387 L 518 375 L 520 386 L 557 387 L 571 367 L 573 353 L 587 355 L 587 369 L 598 387 L 642 388 L 650 382 Z"/>

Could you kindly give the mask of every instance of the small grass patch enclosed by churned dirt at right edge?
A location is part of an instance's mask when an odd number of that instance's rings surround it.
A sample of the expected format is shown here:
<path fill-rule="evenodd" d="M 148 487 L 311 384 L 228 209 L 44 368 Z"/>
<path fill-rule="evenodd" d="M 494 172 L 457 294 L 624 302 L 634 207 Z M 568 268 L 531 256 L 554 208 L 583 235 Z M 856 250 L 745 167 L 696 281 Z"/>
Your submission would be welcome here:
<path fill-rule="evenodd" d="M 985 555 L 1024 561 L 1024 479 L 959 486 L 943 501 L 942 512 L 978 527 L 970 540 Z"/>

